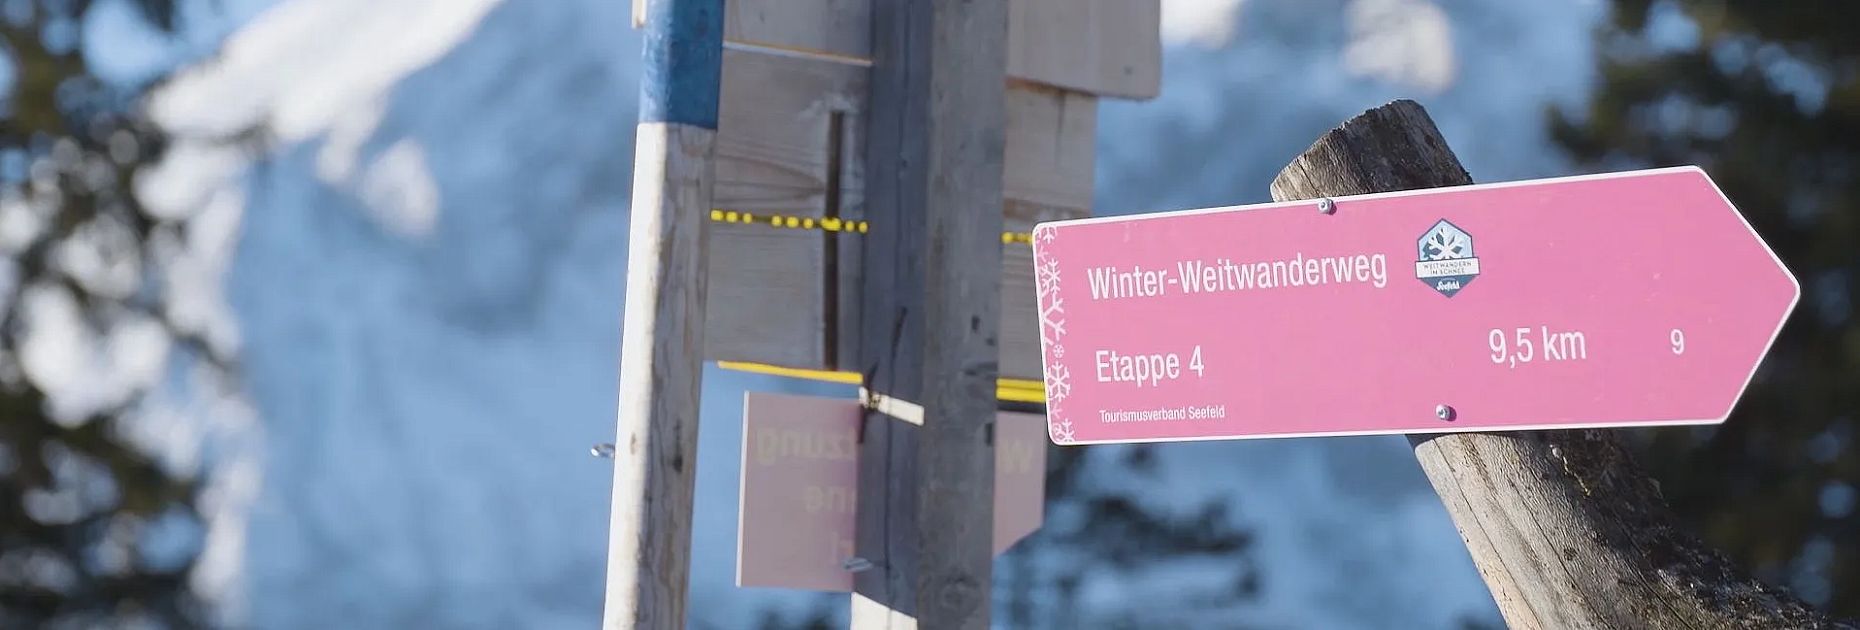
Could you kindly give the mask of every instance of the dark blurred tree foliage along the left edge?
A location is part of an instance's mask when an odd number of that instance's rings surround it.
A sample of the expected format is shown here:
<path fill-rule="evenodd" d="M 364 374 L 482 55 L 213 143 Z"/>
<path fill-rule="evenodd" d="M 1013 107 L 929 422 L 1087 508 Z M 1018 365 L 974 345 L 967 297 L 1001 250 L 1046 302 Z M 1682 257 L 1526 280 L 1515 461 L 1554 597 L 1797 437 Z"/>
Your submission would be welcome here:
<path fill-rule="evenodd" d="M 134 6 L 173 26 L 171 2 Z M 186 219 L 132 193 L 166 141 L 138 112 L 145 85 L 89 67 L 89 9 L 0 6 L 13 76 L 0 102 L 0 626 L 197 626 L 201 483 L 125 433 L 160 377 L 125 385 L 106 374 L 115 361 L 93 359 L 141 348 L 154 372 L 177 355 L 231 366 L 169 314 L 164 266 Z M 73 383 L 82 400 L 65 400 Z"/>

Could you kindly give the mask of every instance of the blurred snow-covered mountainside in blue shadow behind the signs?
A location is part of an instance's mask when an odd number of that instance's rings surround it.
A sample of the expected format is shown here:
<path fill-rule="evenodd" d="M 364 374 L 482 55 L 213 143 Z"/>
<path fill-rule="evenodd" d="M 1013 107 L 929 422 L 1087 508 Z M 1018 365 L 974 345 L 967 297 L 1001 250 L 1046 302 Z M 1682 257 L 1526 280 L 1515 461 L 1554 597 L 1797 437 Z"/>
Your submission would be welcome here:
<path fill-rule="evenodd" d="M 1317 134 L 1393 97 L 1427 104 L 1475 178 L 1561 173 L 1542 108 L 1585 93 L 1600 13 L 1505 0 L 1164 6 L 1162 97 L 1101 110 L 1105 214 L 1263 201 Z M 285 0 L 190 35 L 231 33 L 153 97 L 177 145 L 141 193 L 216 217 L 221 247 L 186 268 L 188 308 L 247 370 L 255 420 L 221 437 L 246 465 L 216 481 L 203 565 L 227 621 L 597 624 L 610 472 L 588 446 L 614 431 L 640 58 L 627 11 L 623 0 Z M 117 59 L 149 72 L 136 54 Z M 694 626 L 837 602 L 731 585 L 750 388 L 846 394 L 707 372 Z M 1263 578 L 1257 598 L 1179 623 L 1495 619 L 1399 439 L 1157 455 L 1133 491 L 1161 509 L 1233 496 Z M 1166 608 L 1196 591 L 1198 571 L 1088 578 L 1077 619 Z"/>

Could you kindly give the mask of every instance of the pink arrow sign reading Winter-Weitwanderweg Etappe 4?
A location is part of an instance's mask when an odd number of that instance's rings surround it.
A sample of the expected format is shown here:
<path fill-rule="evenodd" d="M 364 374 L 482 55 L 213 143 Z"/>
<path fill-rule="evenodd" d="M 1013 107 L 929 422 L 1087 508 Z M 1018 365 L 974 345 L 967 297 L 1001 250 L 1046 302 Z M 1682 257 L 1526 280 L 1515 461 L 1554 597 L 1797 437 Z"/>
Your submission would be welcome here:
<path fill-rule="evenodd" d="M 1696 167 L 1332 201 L 1040 225 L 1053 440 L 1717 424 L 1800 297 Z"/>

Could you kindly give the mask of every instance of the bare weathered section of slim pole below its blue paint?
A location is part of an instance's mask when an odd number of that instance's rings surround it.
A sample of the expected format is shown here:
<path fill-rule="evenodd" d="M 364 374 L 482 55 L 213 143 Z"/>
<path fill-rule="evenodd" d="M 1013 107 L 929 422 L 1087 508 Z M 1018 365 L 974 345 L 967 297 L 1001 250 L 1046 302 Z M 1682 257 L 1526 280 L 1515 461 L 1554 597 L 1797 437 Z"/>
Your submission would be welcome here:
<path fill-rule="evenodd" d="M 638 128 L 603 626 L 684 628 L 714 132 Z"/>

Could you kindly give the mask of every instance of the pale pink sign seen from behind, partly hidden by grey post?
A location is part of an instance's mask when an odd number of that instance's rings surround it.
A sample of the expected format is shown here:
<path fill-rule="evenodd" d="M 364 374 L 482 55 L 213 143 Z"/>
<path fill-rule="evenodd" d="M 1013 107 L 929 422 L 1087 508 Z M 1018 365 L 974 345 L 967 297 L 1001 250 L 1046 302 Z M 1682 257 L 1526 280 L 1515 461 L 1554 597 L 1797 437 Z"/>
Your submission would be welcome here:
<path fill-rule="evenodd" d="M 859 403 L 748 392 L 737 585 L 852 591 Z M 1040 528 L 1045 439 L 1038 414 L 995 418 L 995 554 Z"/>

